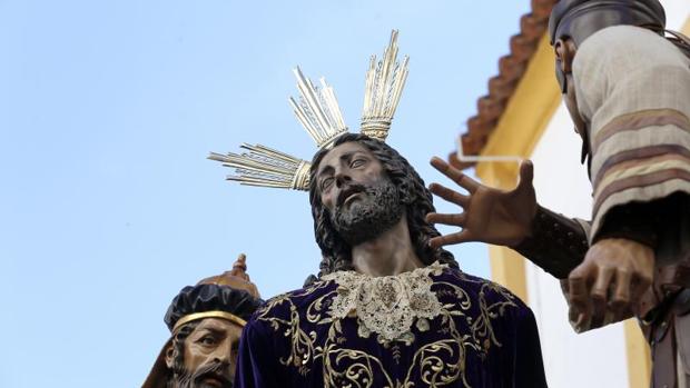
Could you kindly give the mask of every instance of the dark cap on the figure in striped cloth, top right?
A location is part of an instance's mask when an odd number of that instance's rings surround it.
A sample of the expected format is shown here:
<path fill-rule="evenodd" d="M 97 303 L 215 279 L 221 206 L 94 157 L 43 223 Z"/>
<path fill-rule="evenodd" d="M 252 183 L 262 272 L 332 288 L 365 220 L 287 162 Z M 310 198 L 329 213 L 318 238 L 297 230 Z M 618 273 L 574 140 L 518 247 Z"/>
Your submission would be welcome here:
<path fill-rule="evenodd" d="M 666 28 L 659 0 L 560 0 L 549 19 L 551 44 L 570 37 L 580 46 L 592 33 L 611 26 Z"/>

